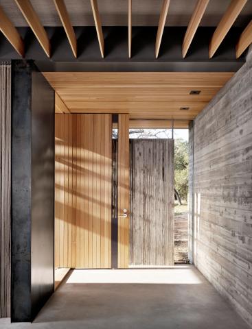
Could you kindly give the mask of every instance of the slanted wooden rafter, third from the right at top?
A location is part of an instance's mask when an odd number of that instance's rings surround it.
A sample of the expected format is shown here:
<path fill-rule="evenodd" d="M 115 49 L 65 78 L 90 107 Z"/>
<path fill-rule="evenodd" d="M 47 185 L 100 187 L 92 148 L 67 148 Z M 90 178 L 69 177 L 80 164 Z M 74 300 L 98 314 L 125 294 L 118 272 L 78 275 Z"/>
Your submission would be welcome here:
<path fill-rule="evenodd" d="M 198 0 L 198 2 L 196 3 L 196 7 L 194 8 L 192 18 L 187 27 L 187 30 L 185 32 L 185 38 L 183 40 L 183 45 L 182 45 L 183 58 L 185 58 L 185 55 L 187 54 L 187 51 L 192 43 L 192 39 L 194 38 L 194 34 L 196 33 L 198 25 L 201 23 L 201 19 L 203 18 L 203 14 L 205 13 L 208 3 L 209 0 Z"/>

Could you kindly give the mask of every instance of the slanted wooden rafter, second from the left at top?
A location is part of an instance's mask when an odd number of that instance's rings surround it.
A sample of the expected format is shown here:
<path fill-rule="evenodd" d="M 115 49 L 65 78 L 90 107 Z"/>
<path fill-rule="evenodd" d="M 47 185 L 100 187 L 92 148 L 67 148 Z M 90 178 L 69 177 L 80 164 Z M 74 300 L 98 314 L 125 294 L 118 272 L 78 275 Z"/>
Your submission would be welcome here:
<path fill-rule="evenodd" d="M 50 57 L 51 46 L 49 42 L 49 38 L 41 21 L 38 19 L 38 15 L 36 14 L 32 4 L 29 0 L 15 0 L 19 9 L 21 10 L 25 20 L 30 25 L 32 31 L 34 32 L 38 42 L 41 44 L 41 47 L 44 49 L 45 53 L 48 57 Z"/>

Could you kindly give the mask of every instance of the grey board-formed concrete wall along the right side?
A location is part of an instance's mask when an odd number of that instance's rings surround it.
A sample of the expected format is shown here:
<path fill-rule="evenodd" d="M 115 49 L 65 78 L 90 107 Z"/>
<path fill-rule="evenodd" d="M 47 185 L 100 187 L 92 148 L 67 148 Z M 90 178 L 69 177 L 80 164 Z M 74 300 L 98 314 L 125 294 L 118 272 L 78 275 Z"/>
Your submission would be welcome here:
<path fill-rule="evenodd" d="M 252 325 L 252 54 L 190 126 L 192 171 L 191 261 Z"/>

